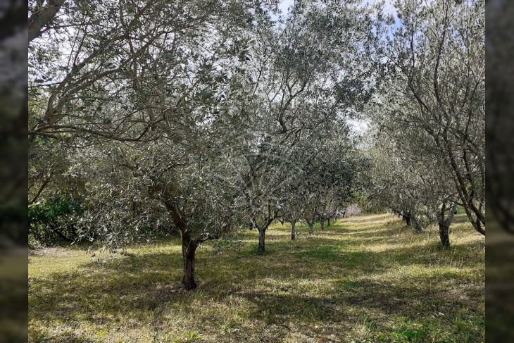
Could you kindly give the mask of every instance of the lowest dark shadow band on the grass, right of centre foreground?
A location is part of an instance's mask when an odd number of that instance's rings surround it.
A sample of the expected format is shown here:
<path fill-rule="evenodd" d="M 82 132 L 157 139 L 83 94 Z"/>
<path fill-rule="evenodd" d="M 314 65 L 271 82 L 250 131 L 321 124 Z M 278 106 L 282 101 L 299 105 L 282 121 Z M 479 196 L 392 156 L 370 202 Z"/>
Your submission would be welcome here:
<path fill-rule="evenodd" d="M 427 280 L 430 281 L 430 280 Z M 332 282 L 333 290 L 323 297 L 292 293 L 287 287 L 277 292 L 236 292 L 256 306 L 251 316 L 268 323 L 288 321 L 348 319 L 356 313 L 376 313 L 379 316 L 416 318 L 420 313 L 444 311 L 451 316 L 465 306 L 450 299 L 441 289 L 420 289 L 405 285 L 388 285 L 370 280 Z M 301 306 L 299 306 L 301 304 Z M 357 310 L 357 311 L 356 311 Z"/>

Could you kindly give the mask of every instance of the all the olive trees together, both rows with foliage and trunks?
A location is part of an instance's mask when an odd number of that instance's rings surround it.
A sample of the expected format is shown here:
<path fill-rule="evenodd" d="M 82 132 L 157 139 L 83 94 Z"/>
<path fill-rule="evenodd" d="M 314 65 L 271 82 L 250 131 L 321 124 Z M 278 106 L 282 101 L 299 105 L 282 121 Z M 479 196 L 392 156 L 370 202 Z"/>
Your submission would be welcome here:
<path fill-rule="evenodd" d="M 484 234 L 483 7 L 399 1 L 391 27 L 361 1 L 30 2 L 32 237 L 179 232 L 192 289 L 206 240 L 264 252 L 274 220 L 294 239 L 358 194 L 444 247 L 456 205 Z"/>

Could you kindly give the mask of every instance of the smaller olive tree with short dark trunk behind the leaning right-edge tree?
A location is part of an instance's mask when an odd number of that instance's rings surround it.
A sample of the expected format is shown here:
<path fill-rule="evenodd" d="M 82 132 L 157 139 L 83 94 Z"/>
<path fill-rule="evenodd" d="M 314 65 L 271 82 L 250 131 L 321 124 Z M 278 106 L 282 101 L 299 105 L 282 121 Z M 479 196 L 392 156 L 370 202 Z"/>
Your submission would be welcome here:
<path fill-rule="evenodd" d="M 447 174 L 441 172 L 444 162 L 430 149 L 420 154 L 419 139 L 427 137 L 412 130 L 398 135 L 394 132 L 382 130 L 367 152 L 372 201 L 402 216 L 416 232 L 439 223 L 441 245 L 449 248 L 449 226 L 457 195 L 445 180 Z"/>

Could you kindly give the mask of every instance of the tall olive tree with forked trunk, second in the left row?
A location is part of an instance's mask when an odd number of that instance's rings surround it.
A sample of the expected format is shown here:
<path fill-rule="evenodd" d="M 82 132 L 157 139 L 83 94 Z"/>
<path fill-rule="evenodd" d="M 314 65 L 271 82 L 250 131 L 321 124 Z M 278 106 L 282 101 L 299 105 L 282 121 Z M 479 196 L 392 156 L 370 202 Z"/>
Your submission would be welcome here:
<path fill-rule="evenodd" d="M 367 101 L 375 85 L 370 15 L 358 4 L 297 2 L 287 18 L 256 25 L 245 58 L 236 171 L 251 228 L 265 231 L 287 200 L 289 179 L 305 166 L 292 159 L 303 139 L 319 139 Z"/>

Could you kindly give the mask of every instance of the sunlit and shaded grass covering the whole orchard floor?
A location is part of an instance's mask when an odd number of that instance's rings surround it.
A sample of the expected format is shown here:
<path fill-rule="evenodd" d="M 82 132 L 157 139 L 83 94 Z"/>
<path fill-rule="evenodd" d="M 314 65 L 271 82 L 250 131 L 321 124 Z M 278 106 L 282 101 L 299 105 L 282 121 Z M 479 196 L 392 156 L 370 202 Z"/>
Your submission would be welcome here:
<path fill-rule="evenodd" d="M 295 241 L 274 224 L 263 255 L 242 232 L 239 249 L 199 248 L 192 292 L 178 239 L 105 263 L 30 256 L 30 342 L 484 342 L 484 237 L 456 219 L 450 251 L 387 214 Z"/>

